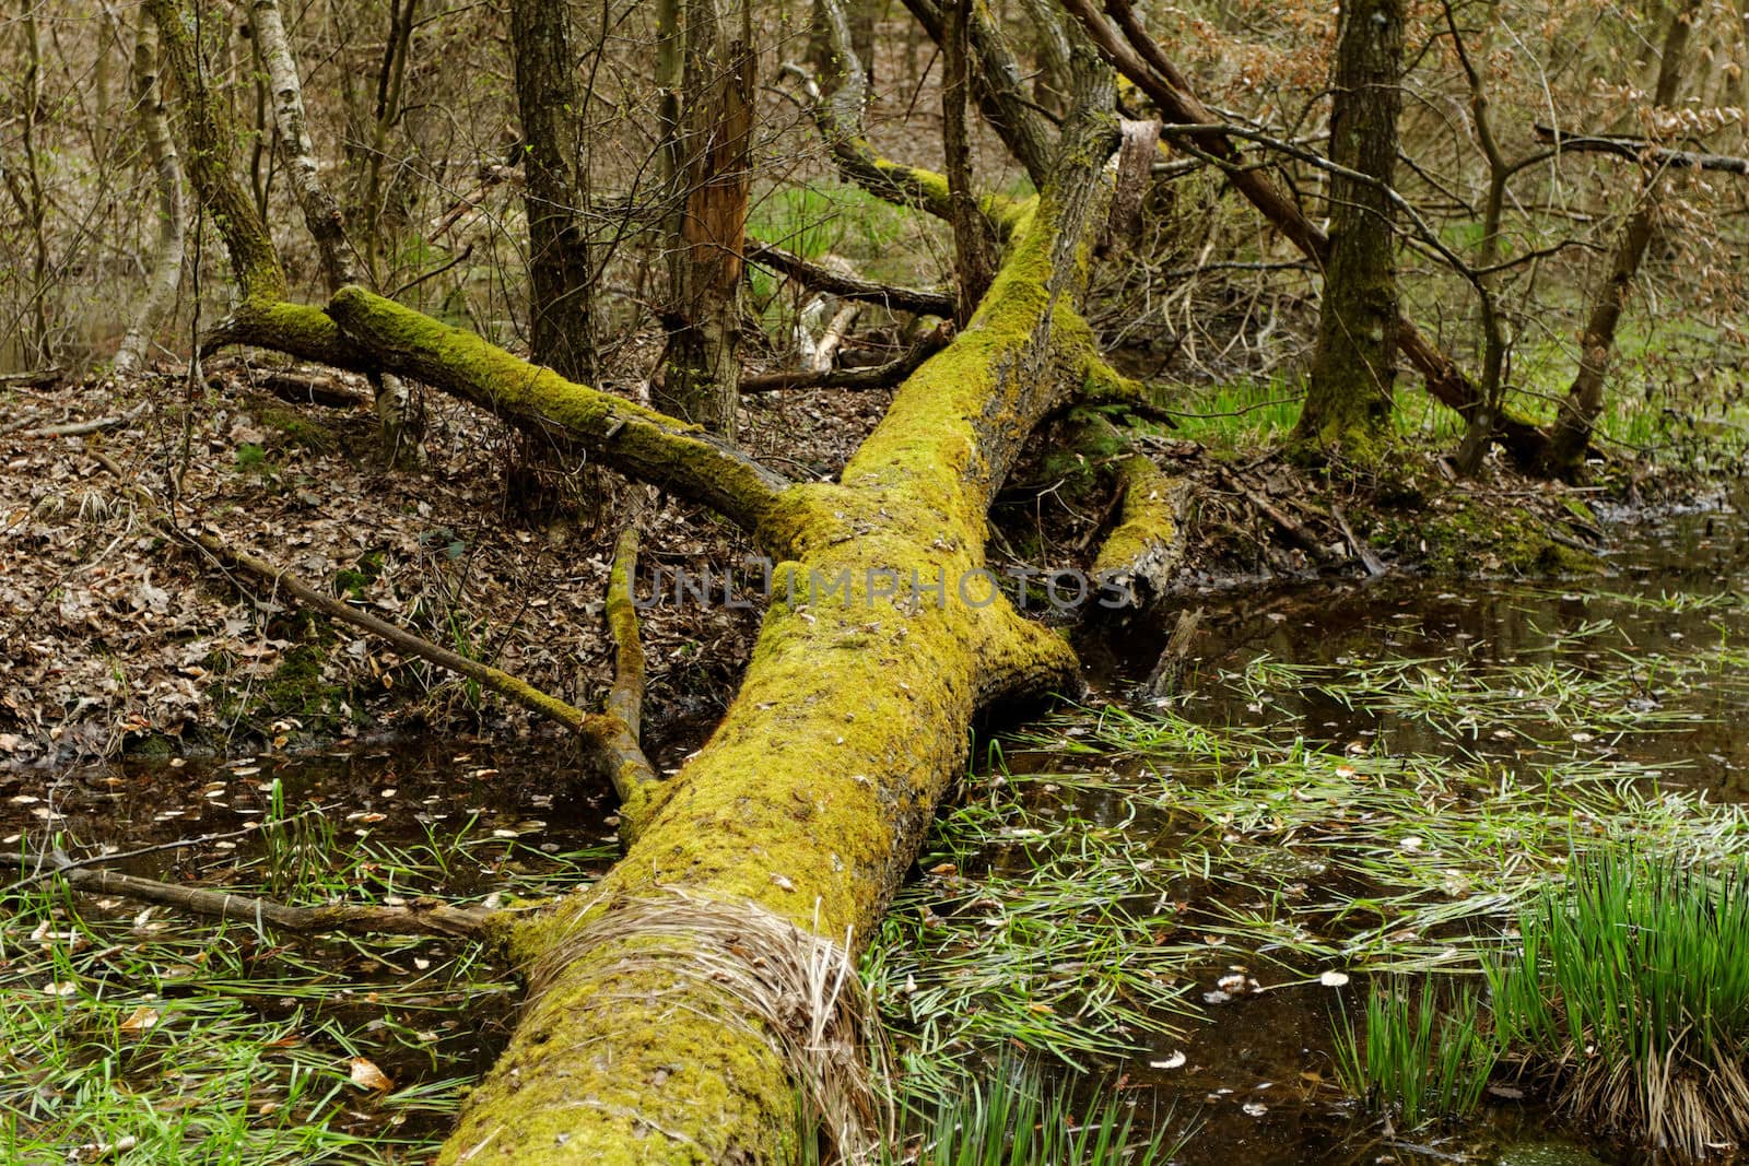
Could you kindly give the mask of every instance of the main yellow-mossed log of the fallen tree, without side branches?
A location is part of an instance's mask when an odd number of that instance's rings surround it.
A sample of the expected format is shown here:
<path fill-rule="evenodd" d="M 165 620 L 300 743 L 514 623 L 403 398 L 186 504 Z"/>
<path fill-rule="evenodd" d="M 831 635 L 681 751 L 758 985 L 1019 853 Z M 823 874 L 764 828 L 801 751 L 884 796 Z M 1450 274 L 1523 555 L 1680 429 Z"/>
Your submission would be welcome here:
<path fill-rule="evenodd" d="M 1074 675 L 1058 636 L 993 596 L 983 547 L 1021 442 L 1093 357 L 1074 304 L 1116 145 L 1098 89 L 969 327 L 901 386 L 841 482 L 789 488 L 759 526 L 784 561 L 735 703 L 640 808 L 624 860 L 521 928 L 532 998 L 441 1161 L 792 1154 L 794 1035 L 777 1030 L 812 1009 L 745 988 L 791 982 L 785 956 L 672 921 L 708 904 L 752 937 L 777 921 L 848 956 L 960 771 L 974 710 Z"/>

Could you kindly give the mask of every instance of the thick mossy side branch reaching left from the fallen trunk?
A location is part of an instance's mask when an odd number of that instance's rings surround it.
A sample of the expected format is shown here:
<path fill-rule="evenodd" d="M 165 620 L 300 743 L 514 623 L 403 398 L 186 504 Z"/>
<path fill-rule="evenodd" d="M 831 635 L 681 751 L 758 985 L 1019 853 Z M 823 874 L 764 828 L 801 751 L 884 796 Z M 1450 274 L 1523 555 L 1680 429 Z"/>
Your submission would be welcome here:
<path fill-rule="evenodd" d="M 339 330 L 387 372 L 425 381 L 584 449 L 626 477 L 701 502 L 757 535 L 791 486 L 694 425 L 567 381 L 497 344 L 360 287 L 329 304 Z"/>

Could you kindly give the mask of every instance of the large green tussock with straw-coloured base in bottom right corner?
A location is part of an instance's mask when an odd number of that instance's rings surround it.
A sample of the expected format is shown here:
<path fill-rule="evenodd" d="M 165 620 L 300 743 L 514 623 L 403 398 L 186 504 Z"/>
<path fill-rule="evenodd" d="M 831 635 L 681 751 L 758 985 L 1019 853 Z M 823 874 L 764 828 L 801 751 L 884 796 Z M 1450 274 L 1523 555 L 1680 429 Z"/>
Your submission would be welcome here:
<path fill-rule="evenodd" d="M 1495 1023 L 1565 1108 L 1690 1157 L 1749 1138 L 1749 869 L 1578 855 L 1520 933 Z"/>

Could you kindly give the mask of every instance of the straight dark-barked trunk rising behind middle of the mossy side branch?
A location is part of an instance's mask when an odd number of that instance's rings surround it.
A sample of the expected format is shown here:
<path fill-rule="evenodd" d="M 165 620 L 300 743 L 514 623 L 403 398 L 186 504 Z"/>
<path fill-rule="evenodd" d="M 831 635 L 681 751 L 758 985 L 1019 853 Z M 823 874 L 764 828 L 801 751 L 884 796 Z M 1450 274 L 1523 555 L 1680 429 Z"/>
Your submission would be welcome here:
<path fill-rule="evenodd" d="M 512 0 L 511 45 L 523 124 L 530 346 L 539 364 L 588 381 L 595 376 L 588 156 L 568 0 Z"/>

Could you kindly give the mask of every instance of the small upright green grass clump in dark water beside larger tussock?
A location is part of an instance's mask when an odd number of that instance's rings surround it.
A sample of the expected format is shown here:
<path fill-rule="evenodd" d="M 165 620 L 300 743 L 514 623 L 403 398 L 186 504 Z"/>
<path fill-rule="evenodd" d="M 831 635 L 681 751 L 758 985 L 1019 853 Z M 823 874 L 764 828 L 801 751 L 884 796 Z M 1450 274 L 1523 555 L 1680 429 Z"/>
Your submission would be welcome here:
<path fill-rule="evenodd" d="M 1404 1131 L 1473 1114 L 1499 1061 L 1474 989 L 1455 991 L 1441 1007 L 1432 981 L 1422 981 L 1417 1003 L 1403 984 L 1375 981 L 1364 1035 L 1343 1016 L 1334 1037 L 1343 1089 Z"/>

